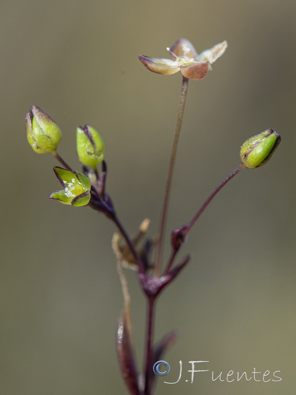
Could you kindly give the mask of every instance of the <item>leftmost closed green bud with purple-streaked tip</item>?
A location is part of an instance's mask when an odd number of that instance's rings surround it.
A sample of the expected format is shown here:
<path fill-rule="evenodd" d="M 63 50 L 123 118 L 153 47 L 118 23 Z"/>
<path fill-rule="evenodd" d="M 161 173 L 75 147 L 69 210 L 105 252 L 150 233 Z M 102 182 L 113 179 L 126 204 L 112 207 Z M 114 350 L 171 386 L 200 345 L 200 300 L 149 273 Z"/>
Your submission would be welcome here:
<path fill-rule="evenodd" d="M 26 115 L 28 142 L 37 154 L 54 153 L 61 141 L 59 126 L 39 107 L 32 106 Z"/>

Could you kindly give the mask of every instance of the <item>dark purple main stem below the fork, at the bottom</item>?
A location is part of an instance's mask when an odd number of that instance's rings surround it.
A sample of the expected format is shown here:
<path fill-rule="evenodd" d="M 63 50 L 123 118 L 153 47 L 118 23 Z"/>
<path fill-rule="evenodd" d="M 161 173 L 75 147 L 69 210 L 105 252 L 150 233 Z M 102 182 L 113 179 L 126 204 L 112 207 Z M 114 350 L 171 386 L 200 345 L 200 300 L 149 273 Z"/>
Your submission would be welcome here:
<path fill-rule="evenodd" d="M 152 372 L 153 358 L 153 328 L 154 328 L 154 306 L 155 296 L 148 297 L 148 317 L 147 317 L 147 343 L 146 343 L 146 368 L 145 368 L 145 395 L 151 395 L 150 376 Z"/>

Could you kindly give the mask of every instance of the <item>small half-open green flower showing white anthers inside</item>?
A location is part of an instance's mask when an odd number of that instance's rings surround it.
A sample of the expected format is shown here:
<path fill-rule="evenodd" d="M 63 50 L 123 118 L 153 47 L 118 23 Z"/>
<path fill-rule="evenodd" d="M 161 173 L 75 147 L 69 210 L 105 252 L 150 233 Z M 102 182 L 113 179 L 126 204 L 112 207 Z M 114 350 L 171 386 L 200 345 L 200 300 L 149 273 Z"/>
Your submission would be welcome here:
<path fill-rule="evenodd" d="M 76 207 L 88 204 L 91 184 L 84 174 L 58 166 L 55 166 L 53 171 L 64 189 L 53 192 L 49 195 L 50 199 L 58 200 L 63 204 L 72 204 Z"/>

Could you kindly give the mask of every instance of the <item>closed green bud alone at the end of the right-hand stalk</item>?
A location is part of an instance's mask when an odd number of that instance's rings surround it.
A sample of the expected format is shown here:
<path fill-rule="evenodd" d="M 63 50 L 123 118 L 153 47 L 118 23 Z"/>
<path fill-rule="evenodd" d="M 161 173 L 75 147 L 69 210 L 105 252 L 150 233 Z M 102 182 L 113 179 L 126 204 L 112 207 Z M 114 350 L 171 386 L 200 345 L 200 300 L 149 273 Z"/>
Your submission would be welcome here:
<path fill-rule="evenodd" d="M 273 129 L 250 137 L 241 146 L 240 158 L 242 163 L 249 169 L 263 166 L 272 157 L 282 137 Z"/>

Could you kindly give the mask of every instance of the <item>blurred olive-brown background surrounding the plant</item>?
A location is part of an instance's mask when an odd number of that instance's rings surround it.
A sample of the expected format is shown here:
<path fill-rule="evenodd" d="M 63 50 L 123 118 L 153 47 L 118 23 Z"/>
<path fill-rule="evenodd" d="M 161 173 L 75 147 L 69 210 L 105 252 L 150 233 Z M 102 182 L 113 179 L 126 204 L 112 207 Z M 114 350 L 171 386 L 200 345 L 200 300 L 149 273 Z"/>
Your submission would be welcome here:
<path fill-rule="evenodd" d="M 76 170 L 75 128 L 94 126 L 119 217 L 130 234 L 148 217 L 155 235 L 182 76 L 150 73 L 137 56 L 168 57 L 180 37 L 198 52 L 222 40 L 228 49 L 205 79 L 189 81 L 168 234 L 238 166 L 247 138 L 271 127 L 283 140 L 266 166 L 222 190 L 182 248 L 190 264 L 157 306 L 156 339 L 180 331 L 157 394 L 292 394 L 295 0 L 2 0 L 0 18 L 1 394 L 127 394 L 115 353 L 122 297 L 114 227 L 48 199 L 60 188 L 58 163 L 33 152 L 24 119 L 33 104 L 54 118 L 59 154 Z M 168 237 L 166 245 L 167 256 Z M 127 276 L 141 367 L 145 298 L 135 273 Z M 180 360 L 181 381 L 164 384 L 177 380 Z M 193 384 L 185 382 L 190 360 L 210 361 Z M 212 371 L 225 379 L 254 368 L 271 380 L 212 381 Z M 275 371 L 282 381 L 272 381 Z"/>

